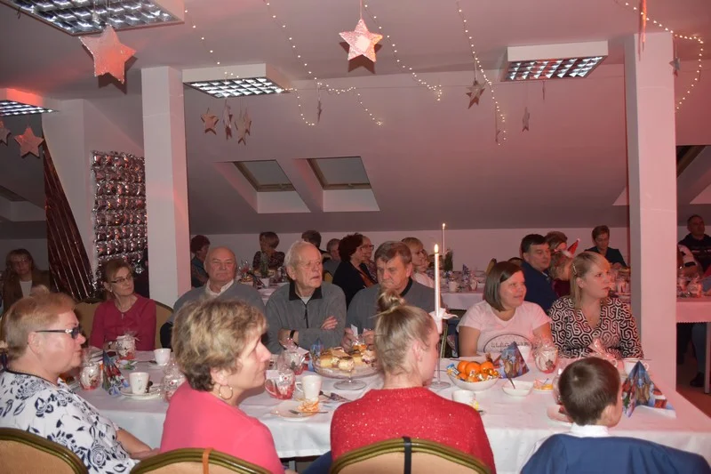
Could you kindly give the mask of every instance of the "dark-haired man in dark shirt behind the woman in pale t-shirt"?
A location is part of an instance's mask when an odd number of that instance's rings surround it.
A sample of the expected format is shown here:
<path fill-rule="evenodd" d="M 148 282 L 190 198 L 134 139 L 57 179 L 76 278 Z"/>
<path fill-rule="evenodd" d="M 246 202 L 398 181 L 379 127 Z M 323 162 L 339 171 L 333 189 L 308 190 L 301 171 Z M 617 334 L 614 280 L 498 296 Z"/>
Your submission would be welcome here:
<path fill-rule="evenodd" d="M 553 290 L 551 278 L 547 269 L 550 266 L 550 248 L 546 237 L 539 234 L 529 234 L 521 241 L 521 256 L 523 257 L 523 277 L 526 279 L 525 301 L 538 304 L 548 311 L 558 296 Z"/>

